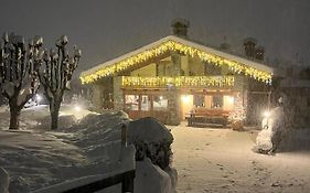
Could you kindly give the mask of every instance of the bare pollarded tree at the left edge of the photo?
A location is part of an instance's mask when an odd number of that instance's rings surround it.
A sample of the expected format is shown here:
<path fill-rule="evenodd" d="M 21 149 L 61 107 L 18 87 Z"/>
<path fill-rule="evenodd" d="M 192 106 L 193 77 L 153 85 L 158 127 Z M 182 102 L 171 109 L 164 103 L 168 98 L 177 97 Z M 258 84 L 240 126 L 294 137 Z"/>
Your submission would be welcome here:
<path fill-rule="evenodd" d="M 3 41 L 3 42 L 2 42 Z M 20 35 L 4 33 L 0 41 L 0 88 L 10 107 L 10 129 L 19 129 L 20 112 L 39 88 L 38 73 L 43 60 L 43 39 L 26 46 Z"/>

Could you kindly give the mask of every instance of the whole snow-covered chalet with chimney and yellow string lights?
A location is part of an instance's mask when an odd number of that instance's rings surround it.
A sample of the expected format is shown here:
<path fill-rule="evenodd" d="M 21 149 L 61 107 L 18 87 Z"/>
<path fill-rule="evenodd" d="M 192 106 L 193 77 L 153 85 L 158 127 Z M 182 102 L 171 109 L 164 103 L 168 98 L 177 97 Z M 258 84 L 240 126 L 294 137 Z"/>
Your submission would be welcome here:
<path fill-rule="evenodd" d="M 173 35 L 82 72 L 94 107 L 179 125 L 190 111 L 221 116 L 238 105 L 254 122 L 269 101 L 272 68 L 191 41 L 185 22 L 172 26 Z"/>

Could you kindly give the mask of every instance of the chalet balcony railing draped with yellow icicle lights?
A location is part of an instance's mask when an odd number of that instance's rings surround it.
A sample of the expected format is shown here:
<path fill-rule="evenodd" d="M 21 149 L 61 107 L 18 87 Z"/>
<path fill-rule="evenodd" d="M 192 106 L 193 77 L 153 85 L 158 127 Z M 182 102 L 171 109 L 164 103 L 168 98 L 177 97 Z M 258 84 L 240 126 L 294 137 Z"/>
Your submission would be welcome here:
<path fill-rule="evenodd" d="M 234 76 L 121 76 L 122 88 L 150 88 L 150 87 L 220 87 L 231 88 L 235 85 Z"/>

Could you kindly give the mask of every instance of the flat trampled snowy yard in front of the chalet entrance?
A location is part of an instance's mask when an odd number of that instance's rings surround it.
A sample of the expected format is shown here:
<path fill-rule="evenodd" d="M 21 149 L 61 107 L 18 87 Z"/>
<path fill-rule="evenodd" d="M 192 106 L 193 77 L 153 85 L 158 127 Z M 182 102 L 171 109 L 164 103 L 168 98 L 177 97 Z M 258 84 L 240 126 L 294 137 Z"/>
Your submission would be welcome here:
<path fill-rule="evenodd" d="M 257 131 L 172 129 L 178 192 L 310 192 L 310 130 L 291 132 L 276 156 L 252 151 Z"/>

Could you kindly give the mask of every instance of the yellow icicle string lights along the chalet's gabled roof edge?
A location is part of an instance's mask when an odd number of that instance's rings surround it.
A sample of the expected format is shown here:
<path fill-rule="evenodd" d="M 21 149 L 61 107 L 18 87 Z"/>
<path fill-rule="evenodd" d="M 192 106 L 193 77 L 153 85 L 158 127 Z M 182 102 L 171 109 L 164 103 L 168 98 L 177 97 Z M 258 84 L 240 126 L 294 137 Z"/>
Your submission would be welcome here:
<path fill-rule="evenodd" d="M 89 84 L 101 77 L 115 75 L 119 72 L 125 71 L 128 67 L 135 66 L 141 62 L 148 61 L 169 51 L 178 51 L 182 54 L 190 55 L 191 57 L 197 56 L 203 62 L 212 63 L 217 66 L 226 65 L 229 67 L 229 69 L 235 73 L 244 73 L 245 75 L 250 76 L 257 81 L 261 81 L 269 84 L 271 83 L 272 74 L 269 72 L 257 69 L 246 64 L 231 61 L 215 54 L 206 53 L 196 47 L 184 45 L 173 40 L 163 42 L 162 44 L 154 46 L 153 49 L 143 51 L 137 55 L 125 58 L 113 65 L 103 66 L 100 69 L 88 75 L 82 75 L 79 78 L 82 81 L 82 84 Z"/>

